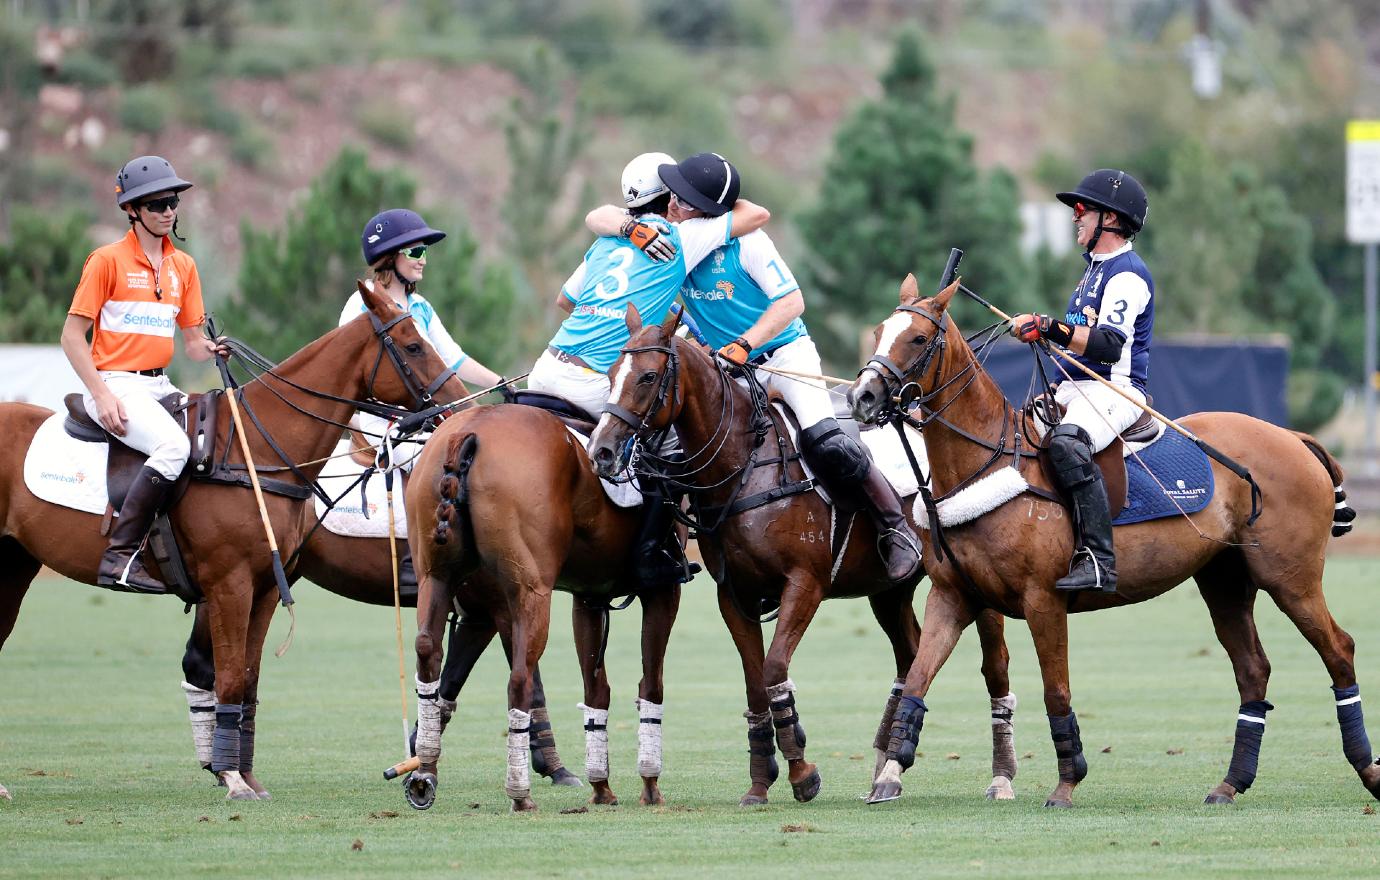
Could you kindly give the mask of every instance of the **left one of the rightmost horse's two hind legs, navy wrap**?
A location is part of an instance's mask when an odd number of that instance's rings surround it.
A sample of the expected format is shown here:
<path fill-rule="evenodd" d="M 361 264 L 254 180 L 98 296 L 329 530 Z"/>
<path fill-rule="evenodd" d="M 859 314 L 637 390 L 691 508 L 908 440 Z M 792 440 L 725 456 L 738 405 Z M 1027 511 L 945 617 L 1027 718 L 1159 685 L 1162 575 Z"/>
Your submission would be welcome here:
<path fill-rule="evenodd" d="M 1236 676 L 1241 708 L 1236 710 L 1236 742 L 1231 750 L 1227 777 L 1208 793 L 1203 803 L 1232 804 L 1256 781 L 1260 741 L 1265 735 L 1265 713 L 1274 709 L 1265 699 L 1270 683 L 1270 659 L 1256 632 L 1256 585 L 1250 581 L 1239 553 L 1223 553 L 1194 579 L 1212 614 L 1217 641 L 1227 648 Z"/>

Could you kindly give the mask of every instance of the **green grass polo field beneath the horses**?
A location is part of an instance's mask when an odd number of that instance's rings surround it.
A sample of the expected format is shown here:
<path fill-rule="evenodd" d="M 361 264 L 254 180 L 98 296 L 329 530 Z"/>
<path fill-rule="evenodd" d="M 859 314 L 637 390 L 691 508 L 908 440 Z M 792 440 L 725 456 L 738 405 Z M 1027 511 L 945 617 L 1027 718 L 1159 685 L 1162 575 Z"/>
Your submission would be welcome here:
<path fill-rule="evenodd" d="M 501 652 L 486 657 L 446 732 L 439 799 L 414 812 L 381 770 L 400 756 L 392 614 L 304 585 L 298 632 L 265 659 L 257 770 L 268 803 L 228 803 L 192 760 L 181 679 L 189 618 L 177 603 L 58 578 L 30 590 L 0 654 L 0 877 L 1380 876 L 1380 815 L 1341 757 L 1328 676 L 1263 599 L 1274 663 L 1256 788 L 1205 807 L 1231 753 L 1236 691 L 1192 586 L 1071 626 L 1074 703 L 1090 772 L 1072 811 L 1042 808 L 1054 757 L 1028 632 L 1012 622 L 1013 803 L 988 803 L 987 695 L 965 636 L 927 703 L 900 801 L 864 807 L 890 651 L 862 601 L 827 604 L 792 668 L 824 790 L 742 810 L 747 742 L 737 655 L 701 578 L 668 661 L 669 806 L 635 804 L 636 611 L 615 615 L 609 663 L 620 807 L 537 781 L 541 811 L 509 815 Z M 1380 741 L 1380 561 L 1329 563 L 1333 614 L 1357 639 Z M 584 766 L 569 599 L 558 597 L 545 680 L 558 743 Z M 408 625 L 408 629 L 411 626 Z M 286 619 L 275 621 L 277 644 Z M 408 657 L 408 677 L 413 662 Z"/>

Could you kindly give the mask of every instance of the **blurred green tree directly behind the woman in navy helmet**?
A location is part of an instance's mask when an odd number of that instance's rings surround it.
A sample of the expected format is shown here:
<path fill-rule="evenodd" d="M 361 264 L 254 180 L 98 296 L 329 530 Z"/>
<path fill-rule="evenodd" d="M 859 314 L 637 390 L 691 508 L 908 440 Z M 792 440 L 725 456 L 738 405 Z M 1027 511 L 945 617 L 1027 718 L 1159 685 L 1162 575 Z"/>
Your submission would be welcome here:
<path fill-rule="evenodd" d="M 222 332 L 280 360 L 335 327 L 355 280 L 367 274 L 360 229 L 381 210 L 413 206 L 415 189 L 397 171 L 370 167 L 362 150 L 341 150 L 282 229 L 241 226 L 240 295 L 217 309 Z M 460 218 L 418 211 L 448 233 L 429 251 L 420 291 L 461 348 L 495 368 L 511 366 L 512 277 L 482 263 Z"/>

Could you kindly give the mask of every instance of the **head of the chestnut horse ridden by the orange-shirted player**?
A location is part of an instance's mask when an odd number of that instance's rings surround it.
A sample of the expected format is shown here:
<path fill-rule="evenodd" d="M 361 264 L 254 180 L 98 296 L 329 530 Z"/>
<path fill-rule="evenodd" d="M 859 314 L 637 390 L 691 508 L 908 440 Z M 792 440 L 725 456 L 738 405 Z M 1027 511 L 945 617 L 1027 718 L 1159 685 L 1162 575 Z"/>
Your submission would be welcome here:
<path fill-rule="evenodd" d="M 356 321 L 367 320 L 378 341 L 374 357 L 356 360 L 359 388 L 364 389 L 367 399 L 417 411 L 432 406 L 437 397 L 448 401 L 465 396 L 464 383 L 422 337 L 411 312 L 375 294 L 363 281 L 359 281 L 359 295 L 364 299 L 366 312 Z M 392 370 L 381 368 L 385 357 Z"/>

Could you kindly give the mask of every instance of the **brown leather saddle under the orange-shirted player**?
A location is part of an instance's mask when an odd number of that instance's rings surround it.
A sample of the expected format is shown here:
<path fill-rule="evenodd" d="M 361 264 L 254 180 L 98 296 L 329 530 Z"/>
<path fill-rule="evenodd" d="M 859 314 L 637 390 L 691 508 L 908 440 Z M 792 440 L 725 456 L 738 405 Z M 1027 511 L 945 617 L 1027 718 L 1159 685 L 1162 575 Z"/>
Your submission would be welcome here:
<path fill-rule="evenodd" d="M 192 441 L 192 452 L 188 457 L 186 468 L 178 476 L 172 501 L 167 509 L 160 510 L 153 517 L 153 527 L 149 530 L 149 541 L 145 553 L 153 557 L 157 571 L 163 575 L 168 588 L 182 597 L 188 604 L 203 601 L 201 588 L 188 571 L 182 560 L 182 550 L 178 548 L 172 523 L 168 520 L 168 510 L 177 506 L 186 492 L 188 477 L 193 473 L 210 473 L 215 458 L 215 414 L 219 390 L 206 394 L 190 394 L 182 400 L 182 394 L 168 394 L 159 400 L 163 408 L 172 418 L 178 419 L 188 432 Z M 86 443 L 105 443 L 108 447 L 105 466 L 106 508 L 101 519 L 101 534 L 110 534 L 110 521 L 117 516 L 124 505 L 124 497 L 134 483 L 135 474 L 144 468 L 145 454 L 124 446 L 119 437 L 109 433 L 95 419 L 92 419 L 81 404 L 81 394 L 68 394 L 62 400 L 66 404 L 68 415 L 62 428 L 77 440 Z M 148 560 L 146 560 L 148 561 Z"/>

